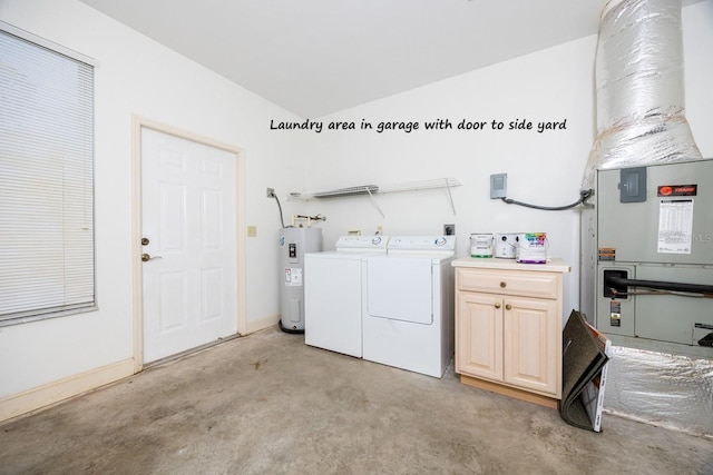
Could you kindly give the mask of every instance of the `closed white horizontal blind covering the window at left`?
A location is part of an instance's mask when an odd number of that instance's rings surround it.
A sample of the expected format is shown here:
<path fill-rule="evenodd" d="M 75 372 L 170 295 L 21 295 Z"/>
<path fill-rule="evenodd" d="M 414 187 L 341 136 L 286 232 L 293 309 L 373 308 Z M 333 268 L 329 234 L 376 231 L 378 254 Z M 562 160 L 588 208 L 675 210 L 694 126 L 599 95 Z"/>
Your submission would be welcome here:
<path fill-rule="evenodd" d="M 94 67 L 26 38 L 0 24 L 0 326 L 96 306 Z"/>

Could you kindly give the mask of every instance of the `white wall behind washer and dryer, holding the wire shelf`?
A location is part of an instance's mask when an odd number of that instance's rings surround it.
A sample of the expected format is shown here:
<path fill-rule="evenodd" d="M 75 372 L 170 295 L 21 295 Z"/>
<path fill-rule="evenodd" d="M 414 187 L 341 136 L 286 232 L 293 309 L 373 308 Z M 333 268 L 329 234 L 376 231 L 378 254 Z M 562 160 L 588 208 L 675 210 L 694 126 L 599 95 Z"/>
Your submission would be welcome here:
<path fill-rule="evenodd" d="M 684 9 L 686 97 L 688 119 L 704 156 L 713 156 L 713 1 Z M 323 131 L 313 137 L 306 191 L 364 184 L 390 185 L 453 177 L 453 216 L 446 191 L 378 195 L 382 218 L 367 197 L 310 201 L 322 212 L 325 245 L 348 230 L 372 234 L 439 234 L 456 224 L 458 254 L 469 250 L 471 232 L 545 231 L 550 256 L 567 260 L 564 318 L 578 308 L 579 221 L 576 210 L 538 211 L 489 198 L 489 176 L 508 174 L 508 197 L 546 206 L 576 201 L 584 168 L 596 135 L 592 36 L 434 85 L 322 118 L 374 123 L 388 120 L 430 121 L 462 118 L 507 122 L 567 119 L 566 130 L 480 132 L 418 130 Z M 428 61 L 424 61 L 427 67 Z M 358 78 L 355 78 L 358 80 Z"/>

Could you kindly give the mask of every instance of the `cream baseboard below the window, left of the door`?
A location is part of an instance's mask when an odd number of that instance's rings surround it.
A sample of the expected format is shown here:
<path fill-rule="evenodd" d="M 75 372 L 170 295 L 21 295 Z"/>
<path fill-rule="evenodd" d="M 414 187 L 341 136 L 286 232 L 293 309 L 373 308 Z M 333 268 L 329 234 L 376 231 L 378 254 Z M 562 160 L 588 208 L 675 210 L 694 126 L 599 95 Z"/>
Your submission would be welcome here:
<path fill-rule="evenodd" d="M 45 408 L 133 374 L 134 359 L 130 358 L 6 396 L 0 399 L 0 422 Z"/>

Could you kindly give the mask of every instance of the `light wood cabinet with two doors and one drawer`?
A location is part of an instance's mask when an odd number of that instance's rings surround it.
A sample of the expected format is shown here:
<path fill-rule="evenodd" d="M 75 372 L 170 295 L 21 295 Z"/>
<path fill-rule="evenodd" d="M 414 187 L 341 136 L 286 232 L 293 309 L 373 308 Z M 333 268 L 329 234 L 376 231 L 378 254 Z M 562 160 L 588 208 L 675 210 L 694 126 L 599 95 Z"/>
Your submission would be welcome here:
<path fill-rule="evenodd" d="M 556 407 L 561 398 L 563 273 L 569 266 L 472 258 L 453 266 L 461 382 Z"/>

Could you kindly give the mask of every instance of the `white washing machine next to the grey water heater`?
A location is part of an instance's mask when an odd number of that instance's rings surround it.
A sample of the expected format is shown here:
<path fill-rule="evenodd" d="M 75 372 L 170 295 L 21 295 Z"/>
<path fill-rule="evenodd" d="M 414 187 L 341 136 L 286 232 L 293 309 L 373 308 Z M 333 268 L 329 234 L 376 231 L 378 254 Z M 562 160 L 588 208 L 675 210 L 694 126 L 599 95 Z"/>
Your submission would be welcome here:
<path fill-rule="evenodd" d="M 342 236 L 336 250 L 304 257 L 304 343 L 362 356 L 365 259 L 385 256 L 388 236 Z"/>

